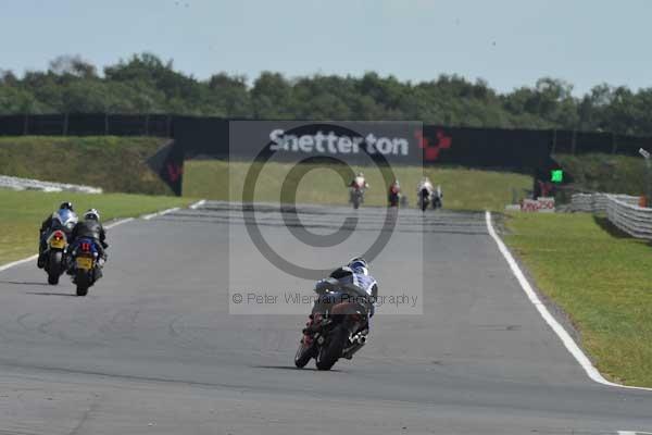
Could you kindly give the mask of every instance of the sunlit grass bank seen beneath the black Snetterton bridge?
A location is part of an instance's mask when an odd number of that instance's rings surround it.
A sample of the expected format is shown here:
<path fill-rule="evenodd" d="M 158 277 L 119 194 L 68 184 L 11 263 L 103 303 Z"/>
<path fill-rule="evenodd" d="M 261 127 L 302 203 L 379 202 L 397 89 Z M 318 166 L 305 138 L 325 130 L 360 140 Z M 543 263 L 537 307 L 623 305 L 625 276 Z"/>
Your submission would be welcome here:
<path fill-rule="evenodd" d="M 255 199 L 279 200 L 280 187 L 292 164 L 268 163 L 256 183 Z M 187 161 L 184 175 L 184 195 L 196 198 L 241 200 L 244 177 L 249 163 L 217 160 Z M 303 178 L 288 178 L 289 186 L 297 188 L 298 202 L 346 204 L 348 190 L 338 175 L 344 166 L 304 165 L 310 170 Z M 387 187 L 377 167 L 353 167 L 365 173 L 371 188 L 367 206 L 385 206 Z M 403 192 L 408 194 L 410 207 L 416 207 L 416 185 L 425 172 L 434 184 L 443 189 L 443 207 L 465 210 L 504 210 L 512 200 L 512 189 L 523 191 L 531 188 L 531 178 L 526 175 L 466 169 L 422 169 L 418 166 L 392 166 Z"/>

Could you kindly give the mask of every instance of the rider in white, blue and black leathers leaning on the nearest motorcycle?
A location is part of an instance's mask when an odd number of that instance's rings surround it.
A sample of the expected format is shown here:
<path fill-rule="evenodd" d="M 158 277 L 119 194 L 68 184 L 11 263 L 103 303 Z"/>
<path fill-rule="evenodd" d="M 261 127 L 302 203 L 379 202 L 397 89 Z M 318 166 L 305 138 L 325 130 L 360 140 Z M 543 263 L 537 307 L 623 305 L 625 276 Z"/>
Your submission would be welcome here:
<path fill-rule="evenodd" d="M 369 319 L 374 316 L 374 303 L 378 297 L 378 284 L 376 283 L 376 279 L 369 275 L 366 260 L 361 257 L 351 259 L 347 265 L 333 271 L 327 279 L 318 281 L 315 284 L 315 293 L 322 295 L 325 289 L 337 288 L 337 286 L 353 286 L 360 290 L 360 295 L 366 295 L 368 302 L 368 318 L 366 324 L 361 327 L 360 332 L 365 336 L 368 335 L 371 325 Z M 303 330 L 303 333 L 306 335 L 309 340 L 312 339 L 313 330 L 311 326 L 313 324 L 314 314 L 319 311 L 321 303 L 317 301 L 315 302 L 312 313 L 310 314 L 310 320 L 306 324 L 306 327 Z"/>

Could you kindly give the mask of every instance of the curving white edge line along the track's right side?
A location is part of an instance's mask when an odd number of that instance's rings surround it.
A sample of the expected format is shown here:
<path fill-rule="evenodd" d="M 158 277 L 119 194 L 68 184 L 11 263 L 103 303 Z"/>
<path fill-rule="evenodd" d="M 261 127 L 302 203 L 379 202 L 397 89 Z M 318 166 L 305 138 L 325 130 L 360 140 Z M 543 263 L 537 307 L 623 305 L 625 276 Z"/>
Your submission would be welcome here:
<path fill-rule="evenodd" d="M 560 339 L 562 340 L 562 343 L 564 344 L 566 349 L 568 349 L 570 355 L 573 357 L 575 357 L 575 359 L 577 360 L 579 365 L 581 365 L 581 368 L 585 370 L 585 372 L 587 372 L 589 377 L 599 384 L 607 385 L 611 387 L 620 387 L 620 388 L 641 389 L 641 390 L 652 391 L 652 388 L 634 387 L 634 386 L 629 386 L 629 385 L 616 384 L 616 383 L 605 380 L 602 376 L 602 374 L 600 374 L 598 369 L 595 369 L 593 366 L 593 364 L 591 363 L 589 358 L 579 348 L 577 343 L 575 343 L 573 337 L 570 337 L 570 334 L 568 334 L 566 332 L 566 330 L 564 330 L 564 327 L 556 321 L 556 319 L 550 313 L 550 311 L 548 311 L 548 308 L 546 308 L 543 302 L 541 302 L 541 299 L 539 299 L 536 291 L 530 286 L 529 282 L 525 277 L 523 271 L 518 266 L 518 263 L 516 263 L 516 260 L 514 260 L 514 257 L 512 257 L 512 253 L 510 252 L 510 250 L 507 249 L 505 244 L 502 241 L 502 239 L 498 236 L 498 234 L 493 229 L 493 225 L 491 224 L 491 212 L 489 212 L 489 211 L 485 212 L 485 220 L 487 221 L 487 229 L 489 231 L 489 235 L 493 238 L 493 240 L 498 245 L 498 249 L 500 250 L 500 252 L 503 254 L 503 257 L 507 261 L 507 264 L 510 265 L 512 273 L 514 274 L 514 276 L 516 276 L 518 284 L 521 284 L 521 288 L 523 288 L 523 291 L 525 291 L 525 294 L 527 295 L 527 298 L 537 308 L 537 310 L 539 311 L 539 314 L 541 314 L 541 316 L 543 318 L 546 323 L 548 323 L 548 325 L 552 328 L 552 331 L 560 337 Z"/>

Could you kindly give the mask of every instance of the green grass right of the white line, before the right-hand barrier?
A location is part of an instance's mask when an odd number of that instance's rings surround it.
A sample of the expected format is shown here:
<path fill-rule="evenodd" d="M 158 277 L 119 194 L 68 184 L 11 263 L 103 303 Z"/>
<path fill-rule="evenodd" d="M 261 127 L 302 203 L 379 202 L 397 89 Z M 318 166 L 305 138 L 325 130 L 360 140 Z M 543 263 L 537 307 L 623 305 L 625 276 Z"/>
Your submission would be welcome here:
<path fill-rule="evenodd" d="M 652 254 L 605 217 L 514 214 L 505 243 L 581 335 L 607 378 L 652 387 Z"/>

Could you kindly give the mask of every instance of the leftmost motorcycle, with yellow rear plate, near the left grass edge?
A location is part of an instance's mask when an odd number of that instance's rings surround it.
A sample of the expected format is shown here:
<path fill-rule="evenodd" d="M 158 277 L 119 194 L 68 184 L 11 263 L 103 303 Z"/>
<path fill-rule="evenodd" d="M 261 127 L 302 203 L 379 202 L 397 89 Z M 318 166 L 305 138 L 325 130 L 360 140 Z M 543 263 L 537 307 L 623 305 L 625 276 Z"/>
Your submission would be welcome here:
<path fill-rule="evenodd" d="M 77 215 L 70 210 L 60 210 L 52 215 L 50 234 L 46 238 L 45 271 L 48 284 L 59 284 L 59 277 L 65 272 L 65 262 L 71 232 L 77 224 Z"/>

